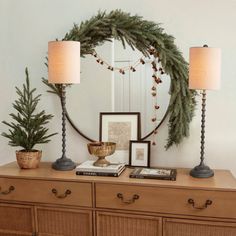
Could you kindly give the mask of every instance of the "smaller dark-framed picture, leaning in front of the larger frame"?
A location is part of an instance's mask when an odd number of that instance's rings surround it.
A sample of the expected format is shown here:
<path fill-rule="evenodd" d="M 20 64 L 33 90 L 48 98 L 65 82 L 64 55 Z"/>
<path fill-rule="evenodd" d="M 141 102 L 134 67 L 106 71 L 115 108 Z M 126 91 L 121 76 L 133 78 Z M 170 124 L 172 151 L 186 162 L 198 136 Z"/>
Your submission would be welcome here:
<path fill-rule="evenodd" d="M 150 141 L 130 140 L 129 165 L 134 167 L 150 167 Z"/>

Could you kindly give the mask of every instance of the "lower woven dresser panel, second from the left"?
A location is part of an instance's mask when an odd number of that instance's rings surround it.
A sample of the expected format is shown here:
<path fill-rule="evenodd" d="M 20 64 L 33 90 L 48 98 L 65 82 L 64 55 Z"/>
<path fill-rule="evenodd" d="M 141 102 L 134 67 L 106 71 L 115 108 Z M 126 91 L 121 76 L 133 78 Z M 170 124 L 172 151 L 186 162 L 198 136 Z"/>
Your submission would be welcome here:
<path fill-rule="evenodd" d="M 92 211 L 37 208 L 39 235 L 92 236 Z"/>

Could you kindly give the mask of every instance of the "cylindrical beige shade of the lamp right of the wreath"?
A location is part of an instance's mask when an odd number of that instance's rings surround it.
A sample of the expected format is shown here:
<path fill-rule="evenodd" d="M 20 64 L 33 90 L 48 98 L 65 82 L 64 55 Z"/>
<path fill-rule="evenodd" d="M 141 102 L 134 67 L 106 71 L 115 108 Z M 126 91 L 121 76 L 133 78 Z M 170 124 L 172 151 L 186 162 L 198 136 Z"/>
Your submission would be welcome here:
<path fill-rule="evenodd" d="M 215 90 L 220 88 L 220 48 L 192 47 L 189 54 L 189 88 Z"/>

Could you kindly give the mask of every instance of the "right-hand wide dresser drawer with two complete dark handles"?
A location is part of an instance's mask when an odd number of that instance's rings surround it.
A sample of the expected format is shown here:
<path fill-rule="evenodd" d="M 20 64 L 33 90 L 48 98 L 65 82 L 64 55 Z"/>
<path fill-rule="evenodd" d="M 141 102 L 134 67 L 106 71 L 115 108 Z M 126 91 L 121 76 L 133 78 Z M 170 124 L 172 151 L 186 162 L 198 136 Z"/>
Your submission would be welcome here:
<path fill-rule="evenodd" d="M 236 192 L 98 183 L 96 207 L 236 218 Z"/>

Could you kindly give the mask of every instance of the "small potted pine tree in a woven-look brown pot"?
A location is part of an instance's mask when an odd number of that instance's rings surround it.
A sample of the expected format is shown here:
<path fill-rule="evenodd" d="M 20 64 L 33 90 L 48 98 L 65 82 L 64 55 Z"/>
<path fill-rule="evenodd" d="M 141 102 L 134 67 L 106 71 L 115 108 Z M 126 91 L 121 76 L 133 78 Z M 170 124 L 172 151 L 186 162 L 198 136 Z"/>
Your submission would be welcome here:
<path fill-rule="evenodd" d="M 10 114 L 13 121 L 2 121 L 9 128 L 9 132 L 3 132 L 2 136 L 9 139 L 10 146 L 19 146 L 23 149 L 16 151 L 16 159 L 20 168 L 32 169 L 39 166 L 42 151 L 35 150 L 36 144 L 48 143 L 50 137 L 56 133 L 47 134 L 45 127 L 53 115 L 46 115 L 45 111 L 37 112 L 36 108 L 41 94 L 34 95 L 36 88 L 30 88 L 28 69 L 25 69 L 26 83 L 22 90 L 16 87 L 18 99 L 14 101 L 13 108 L 16 113 Z"/>

